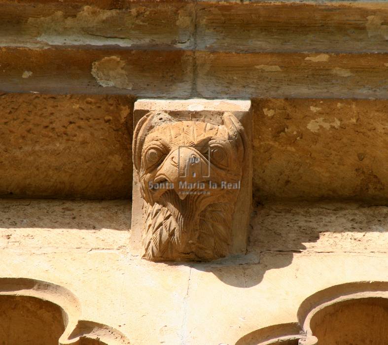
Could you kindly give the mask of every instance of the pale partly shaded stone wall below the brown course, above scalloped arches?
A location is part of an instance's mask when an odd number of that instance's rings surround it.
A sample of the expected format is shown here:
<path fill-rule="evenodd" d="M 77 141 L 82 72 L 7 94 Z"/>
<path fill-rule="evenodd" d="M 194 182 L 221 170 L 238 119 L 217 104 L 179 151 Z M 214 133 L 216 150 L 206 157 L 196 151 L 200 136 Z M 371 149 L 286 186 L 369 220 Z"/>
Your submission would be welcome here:
<path fill-rule="evenodd" d="M 129 201 L 1 200 L 0 268 L 69 289 L 82 319 L 137 345 L 236 344 L 298 322 L 299 306 L 320 290 L 388 280 L 388 207 L 271 203 L 255 213 L 247 256 L 165 265 L 122 245 Z"/>

